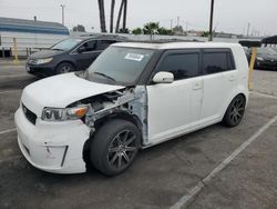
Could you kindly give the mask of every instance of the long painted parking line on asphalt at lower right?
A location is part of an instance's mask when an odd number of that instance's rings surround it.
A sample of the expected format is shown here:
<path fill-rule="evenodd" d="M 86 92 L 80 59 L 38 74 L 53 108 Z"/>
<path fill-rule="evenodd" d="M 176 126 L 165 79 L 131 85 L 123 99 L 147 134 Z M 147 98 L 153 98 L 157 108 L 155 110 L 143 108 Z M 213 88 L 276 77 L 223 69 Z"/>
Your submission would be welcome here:
<path fill-rule="evenodd" d="M 232 160 L 234 160 L 242 151 L 244 151 L 252 142 L 254 142 L 261 133 L 264 133 L 274 122 L 277 121 L 277 116 L 265 123 L 255 135 L 240 145 L 229 157 L 227 157 L 220 165 L 218 165 L 212 172 L 209 172 L 202 181 L 197 183 L 193 189 L 188 191 L 188 195 L 183 196 L 171 209 L 179 209 L 187 207 L 194 198 L 202 191 L 202 189 L 225 167 L 227 167 Z"/>

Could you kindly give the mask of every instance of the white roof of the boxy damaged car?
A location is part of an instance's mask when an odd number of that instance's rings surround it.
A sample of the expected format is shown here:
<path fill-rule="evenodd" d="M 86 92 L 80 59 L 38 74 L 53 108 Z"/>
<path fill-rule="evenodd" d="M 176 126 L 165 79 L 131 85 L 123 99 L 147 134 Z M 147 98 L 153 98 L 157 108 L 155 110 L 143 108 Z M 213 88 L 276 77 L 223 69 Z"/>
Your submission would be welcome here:
<path fill-rule="evenodd" d="M 238 43 L 224 42 L 167 42 L 167 43 L 142 43 L 142 42 L 120 42 L 117 47 L 143 48 L 143 49 L 194 49 L 194 48 L 234 48 L 240 47 Z"/>

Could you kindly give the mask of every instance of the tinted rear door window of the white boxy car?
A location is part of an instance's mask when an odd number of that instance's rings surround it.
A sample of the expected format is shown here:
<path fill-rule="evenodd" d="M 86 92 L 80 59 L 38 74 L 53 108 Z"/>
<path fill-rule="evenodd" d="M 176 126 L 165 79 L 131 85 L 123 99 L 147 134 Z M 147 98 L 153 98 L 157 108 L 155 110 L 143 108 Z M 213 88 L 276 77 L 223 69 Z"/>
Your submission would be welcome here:
<path fill-rule="evenodd" d="M 235 66 L 230 52 L 204 52 L 203 73 L 212 74 L 234 70 Z"/>

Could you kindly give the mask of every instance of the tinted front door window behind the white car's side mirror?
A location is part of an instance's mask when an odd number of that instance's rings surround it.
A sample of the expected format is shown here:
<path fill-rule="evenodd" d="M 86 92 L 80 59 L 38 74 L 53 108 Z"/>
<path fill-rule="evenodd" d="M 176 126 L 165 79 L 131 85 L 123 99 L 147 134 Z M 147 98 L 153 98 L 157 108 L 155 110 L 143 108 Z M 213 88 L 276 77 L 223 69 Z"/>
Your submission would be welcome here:
<path fill-rule="evenodd" d="M 174 74 L 174 80 L 181 80 L 198 76 L 199 54 L 177 53 L 166 56 L 157 68 L 157 71 L 167 71 Z"/>

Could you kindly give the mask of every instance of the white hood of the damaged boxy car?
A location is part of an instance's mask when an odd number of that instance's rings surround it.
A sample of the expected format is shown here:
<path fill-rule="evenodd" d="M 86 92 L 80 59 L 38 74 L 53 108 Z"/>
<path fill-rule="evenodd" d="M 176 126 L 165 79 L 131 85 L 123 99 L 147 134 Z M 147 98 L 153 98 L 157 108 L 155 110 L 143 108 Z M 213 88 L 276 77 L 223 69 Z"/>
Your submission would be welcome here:
<path fill-rule="evenodd" d="M 40 117 L 45 107 L 65 108 L 75 101 L 120 89 L 124 87 L 92 82 L 72 72 L 29 84 L 22 92 L 21 101 Z"/>

